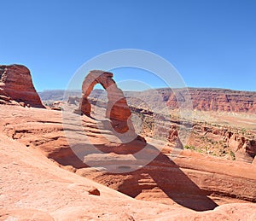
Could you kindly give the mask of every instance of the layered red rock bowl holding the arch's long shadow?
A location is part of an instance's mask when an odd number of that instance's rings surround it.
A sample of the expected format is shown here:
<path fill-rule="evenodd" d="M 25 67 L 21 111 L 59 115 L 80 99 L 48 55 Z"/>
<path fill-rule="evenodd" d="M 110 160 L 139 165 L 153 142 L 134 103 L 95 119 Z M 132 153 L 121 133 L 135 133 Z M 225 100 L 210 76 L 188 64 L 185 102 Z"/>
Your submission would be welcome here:
<path fill-rule="evenodd" d="M 0 134 L 3 132 L 16 142 L 31 147 L 27 150 L 39 149 L 41 153 L 55 160 L 70 172 L 93 178 L 99 183 L 118 189 L 137 199 L 159 201 L 168 203 L 169 206 L 176 202 L 190 208 L 200 205 L 195 208 L 196 210 L 203 209 L 204 206 L 211 207 L 212 201 L 223 204 L 238 202 L 236 198 L 241 201 L 255 201 L 256 199 L 256 167 L 254 165 L 184 150 L 174 160 L 169 159 L 170 154 L 160 154 L 151 163 L 136 172 L 122 174 L 97 172 L 94 168 L 86 168 L 87 166 L 73 153 L 63 131 L 60 112 L 39 108 L 27 108 L 26 111 L 22 111 L 21 107 L 4 105 L 1 105 L 0 108 L 0 119 L 2 119 Z M 73 116 L 73 113 L 68 116 L 70 131 L 78 129 L 78 125 L 74 124 Z M 122 157 L 127 165 L 130 155 L 137 153 L 145 146 L 144 142 L 138 140 L 125 144 L 113 142 L 114 137 L 111 131 L 99 129 L 98 120 L 86 116 L 81 119 L 84 127 L 80 129 L 81 131 L 77 131 L 73 138 L 78 150 L 82 150 L 79 149 L 79 146 L 88 147 L 81 139 L 86 134 L 89 137 L 88 143 L 95 144 L 96 148 L 104 153 L 86 152 L 87 162 L 95 161 L 101 167 L 107 167 L 108 164 L 119 166 L 116 164 L 117 161 L 112 161 L 118 156 Z M 176 134 L 173 130 L 173 135 Z M 2 143 L 2 138 L 0 137 L 0 139 Z M 157 151 L 156 148 L 160 147 L 162 145 L 156 142 L 154 147 L 148 149 L 148 154 L 154 153 Z M 169 153 L 167 150 L 166 153 Z M 14 154 L 15 151 L 9 152 Z M 120 161 L 119 164 L 124 166 L 124 161 Z M 16 169 L 15 172 L 17 172 Z M 96 185 L 90 185 L 90 188 L 91 186 L 97 188 Z M 99 190 L 102 196 L 102 191 Z M 86 195 L 88 195 L 87 191 Z M 205 204 L 206 202 L 209 204 Z"/>

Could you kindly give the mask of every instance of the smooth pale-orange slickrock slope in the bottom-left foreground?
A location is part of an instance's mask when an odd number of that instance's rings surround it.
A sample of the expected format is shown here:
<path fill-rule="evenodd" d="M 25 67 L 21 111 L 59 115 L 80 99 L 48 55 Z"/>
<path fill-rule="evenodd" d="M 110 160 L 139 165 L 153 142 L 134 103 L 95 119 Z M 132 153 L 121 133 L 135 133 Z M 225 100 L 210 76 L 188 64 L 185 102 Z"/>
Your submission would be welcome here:
<path fill-rule="evenodd" d="M 174 210 L 135 201 L 67 172 L 2 134 L 0 141 L 0 220 L 142 220 L 165 217 Z M 90 195 L 92 187 L 101 195 Z"/>

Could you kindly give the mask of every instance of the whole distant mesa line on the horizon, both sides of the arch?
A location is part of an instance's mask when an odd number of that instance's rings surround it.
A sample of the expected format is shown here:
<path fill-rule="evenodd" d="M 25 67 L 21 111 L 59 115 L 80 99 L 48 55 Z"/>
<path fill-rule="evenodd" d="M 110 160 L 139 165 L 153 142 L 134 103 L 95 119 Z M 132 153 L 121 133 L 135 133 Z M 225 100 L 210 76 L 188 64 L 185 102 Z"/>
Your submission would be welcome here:
<path fill-rule="evenodd" d="M 174 91 L 174 92 L 173 92 Z M 234 113 L 256 113 L 256 92 L 211 89 L 211 88 L 189 88 L 183 89 L 155 89 L 144 91 L 125 91 L 125 96 L 129 103 L 134 107 L 147 109 L 148 107 L 163 107 L 163 103 L 171 109 L 178 108 L 178 102 L 183 102 L 184 97 L 189 94 L 193 108 L 203 111 L 234 112 Z M 93 90 L 91 98 L 99 98 L 107 101 L 107 96 L 102 93 L 103 90 Z M 81 96 L 81 92 L 73 90 L 69 92 L 70 96 Z M 43 101 L 62 100 L 64 90 L 45 90 L 39 92 Z M 142 102 L 143 101 L 143 102 Z M 145 107 L 143 107 L 145 106 Z"/>

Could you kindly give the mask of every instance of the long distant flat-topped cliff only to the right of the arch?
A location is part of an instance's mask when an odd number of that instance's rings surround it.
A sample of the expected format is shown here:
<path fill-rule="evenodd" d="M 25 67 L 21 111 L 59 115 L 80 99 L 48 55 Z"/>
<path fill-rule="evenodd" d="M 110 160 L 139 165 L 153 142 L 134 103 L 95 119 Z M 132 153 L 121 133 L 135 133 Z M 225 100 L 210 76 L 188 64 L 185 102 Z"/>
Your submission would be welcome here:
<path fill-rule="evenodd" d="M 156 89 L 142 92 L 127 92 L 131 96 L 131 103 L 143 100 L 154 107 L 162 106 L 164 102 L 171 109 L 179 108 L 179 104 L 186 102 L 190 96 L 193 109 L 202 111 L 256 113 L 256 92 L 212 89 L 212 88 L 189 88 L 184 89 Z"/>

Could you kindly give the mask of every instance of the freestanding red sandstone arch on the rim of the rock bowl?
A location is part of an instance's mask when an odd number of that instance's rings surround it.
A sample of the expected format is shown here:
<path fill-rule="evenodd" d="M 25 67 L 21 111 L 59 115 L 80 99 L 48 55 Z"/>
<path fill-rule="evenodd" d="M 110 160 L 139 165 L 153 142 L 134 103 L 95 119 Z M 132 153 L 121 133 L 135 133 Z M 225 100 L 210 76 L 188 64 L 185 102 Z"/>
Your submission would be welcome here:
<path fill-rule="evenodd" d="M 93 70 L 88 73 L 84 78 L 82 85 L 82 97 L 79 102 L 79 113 L 90 116 L 91 106 L 88 96 L 90 96 L 90 92 L 96 84 L 102 84 L 102 87 L 108 93 L 106 118 L 111 120 L 115 131 L 124 133 L 129 131 L 128 125 L 131 127 L 131 124 L 128 123 L 130 121 L 131 110 L 127 105 L 123 91 L 117 87 L 112 78 L 113 73 L 101 70 Z"/>

